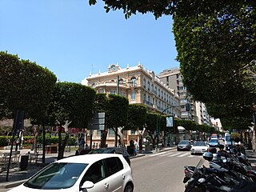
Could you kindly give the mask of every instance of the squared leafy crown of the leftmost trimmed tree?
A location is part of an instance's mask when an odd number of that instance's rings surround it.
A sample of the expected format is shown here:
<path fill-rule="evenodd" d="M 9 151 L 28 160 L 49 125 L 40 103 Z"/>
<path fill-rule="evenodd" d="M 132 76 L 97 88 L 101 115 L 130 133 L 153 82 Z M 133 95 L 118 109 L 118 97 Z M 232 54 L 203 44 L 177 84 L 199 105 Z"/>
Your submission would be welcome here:
<path fill-rule="evenodd" d="M 26 118 L 43 118 L 56 76 L 29 60 L 0 52 L 0 118 L 13 118 L 24 110 Z"/>

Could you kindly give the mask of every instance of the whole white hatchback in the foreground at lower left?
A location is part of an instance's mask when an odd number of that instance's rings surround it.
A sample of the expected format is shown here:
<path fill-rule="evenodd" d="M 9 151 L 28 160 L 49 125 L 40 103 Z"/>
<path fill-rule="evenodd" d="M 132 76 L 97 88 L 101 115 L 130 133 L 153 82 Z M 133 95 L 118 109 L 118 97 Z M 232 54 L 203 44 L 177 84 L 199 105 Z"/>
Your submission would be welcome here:
<path fill-rule="evenodd" d="M 63 158 L 9 192 L 132 192 L 131 168 L 122 154 L 85 154 Z"/>

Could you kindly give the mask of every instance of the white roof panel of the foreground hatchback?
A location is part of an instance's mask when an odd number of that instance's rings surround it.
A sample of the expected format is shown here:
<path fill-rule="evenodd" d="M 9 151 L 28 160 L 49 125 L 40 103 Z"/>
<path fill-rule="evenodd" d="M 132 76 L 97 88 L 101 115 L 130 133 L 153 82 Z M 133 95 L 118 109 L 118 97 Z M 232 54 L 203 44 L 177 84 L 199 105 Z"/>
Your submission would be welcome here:
<path fill-rule="evenodd" d="M 76 155 L 68 158 L 62 158 L 57 162 L 74 162 L 74 163 L 90 164 L 104 158 L 112 158 L 112 157 L 123 158 L 122 154 L 82 154 L 78 156 Z"/>

